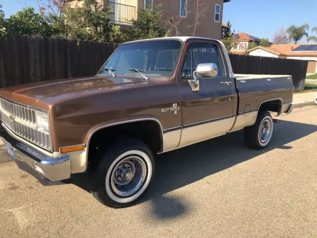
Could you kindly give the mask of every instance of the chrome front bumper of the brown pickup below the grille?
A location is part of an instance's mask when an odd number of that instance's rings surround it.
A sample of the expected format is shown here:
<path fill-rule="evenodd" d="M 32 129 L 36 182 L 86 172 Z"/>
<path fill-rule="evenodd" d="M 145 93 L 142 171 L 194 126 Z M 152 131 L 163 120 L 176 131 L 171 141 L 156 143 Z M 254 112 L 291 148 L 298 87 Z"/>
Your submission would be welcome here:
<path fill-rule="evenodd" d="M 30 173 L 29 170 L 25 169 L 25 166 L 30 167 L 31 171 L 51 181 L 70 178 L 70 156 L 54 158 L 45 155 L 34 147 L 16 140 L 8 129 L 0 131 L 0 138 L 5 145 L 12 149 L 15 156 L 14 161 L 20 169 Z"/>

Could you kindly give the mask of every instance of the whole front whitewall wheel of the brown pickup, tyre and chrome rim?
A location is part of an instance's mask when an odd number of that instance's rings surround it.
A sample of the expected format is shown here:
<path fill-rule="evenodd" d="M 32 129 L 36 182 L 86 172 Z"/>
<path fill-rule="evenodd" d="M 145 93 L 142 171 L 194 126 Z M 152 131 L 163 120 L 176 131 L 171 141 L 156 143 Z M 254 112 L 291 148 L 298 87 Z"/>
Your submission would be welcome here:
<path fill-rule="evenodd" d="M 134 138 L 122 138 L 108 147 L 98 165 L 90 168 L 91 192 L 108 207 L 134 203 L 147 190 L 154 174 L 151 149 Z M 94 159 L 94 158 L 92 158 Z"/>

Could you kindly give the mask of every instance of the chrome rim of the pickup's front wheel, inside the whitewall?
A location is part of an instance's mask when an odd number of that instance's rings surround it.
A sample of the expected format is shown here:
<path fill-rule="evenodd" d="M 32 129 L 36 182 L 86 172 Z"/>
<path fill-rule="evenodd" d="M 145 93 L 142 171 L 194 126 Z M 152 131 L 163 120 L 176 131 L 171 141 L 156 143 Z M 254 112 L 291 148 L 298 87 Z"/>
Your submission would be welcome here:
<path fill-rule="evenodd" d="M 142 158 L 137 155 L 122 158 L 112 171 L 111 190 L 118 196 L 131 196 L 142 187 L 146 177 L 147 166 Z"/>

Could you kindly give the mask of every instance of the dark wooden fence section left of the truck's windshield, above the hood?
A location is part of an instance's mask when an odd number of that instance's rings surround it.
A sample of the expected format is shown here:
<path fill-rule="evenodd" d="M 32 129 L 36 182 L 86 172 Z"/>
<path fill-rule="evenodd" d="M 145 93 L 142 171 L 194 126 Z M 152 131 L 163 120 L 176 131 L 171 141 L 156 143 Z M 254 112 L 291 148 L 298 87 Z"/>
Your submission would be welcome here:
<path fill-rule="evenodd" d="M 0 87 L 96 74 L 117 43 L 40 36 L 0 40 Z"/>

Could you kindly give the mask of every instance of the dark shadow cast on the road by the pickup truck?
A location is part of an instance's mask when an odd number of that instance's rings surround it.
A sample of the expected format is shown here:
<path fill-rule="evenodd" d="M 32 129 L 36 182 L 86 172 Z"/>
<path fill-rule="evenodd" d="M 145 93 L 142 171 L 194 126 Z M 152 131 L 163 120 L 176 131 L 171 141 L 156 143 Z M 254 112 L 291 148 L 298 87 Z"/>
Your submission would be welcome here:
<path fill-rule="evenodd" d="M 317 131 L 317 125 L 281 120 L 274 124 L 274 134 L 264 150 L 252 150 L 244 142 L 243 131 L 237 131 L 156 156 L 156 174 L 146 195 L 138 202 L 151 200 L 157 218 L 172 218 L 186 212 L 181 199 L 164 194 L 186 186 L 270 150 L 292 149 L 287 144 Z M 67 183 L 87 191 L 85 175 L 75 175 Z M 176 209 L 176 208 L 181 209 Z"/>

